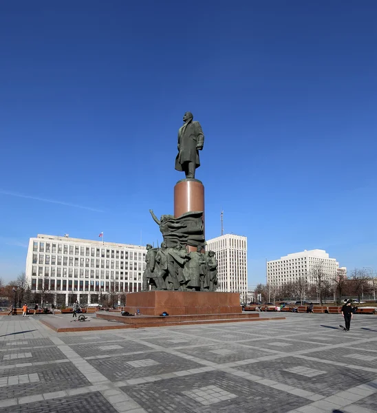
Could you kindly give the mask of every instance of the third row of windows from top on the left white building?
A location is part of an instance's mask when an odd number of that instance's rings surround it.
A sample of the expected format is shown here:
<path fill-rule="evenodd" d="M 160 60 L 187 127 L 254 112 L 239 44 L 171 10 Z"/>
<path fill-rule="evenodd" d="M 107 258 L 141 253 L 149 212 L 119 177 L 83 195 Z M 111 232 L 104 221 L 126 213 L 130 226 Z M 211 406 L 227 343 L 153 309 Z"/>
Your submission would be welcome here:
<path fill-rule="evenodd" d="M 38 271 L 38 273 L 37 273 Z M 54 268 L 33 266 L 32 277 L 95 278 L 95 279 L 134 279 L 141 281 L 142 273 L 137 271 L 84 270 L 83 268 Z"/>

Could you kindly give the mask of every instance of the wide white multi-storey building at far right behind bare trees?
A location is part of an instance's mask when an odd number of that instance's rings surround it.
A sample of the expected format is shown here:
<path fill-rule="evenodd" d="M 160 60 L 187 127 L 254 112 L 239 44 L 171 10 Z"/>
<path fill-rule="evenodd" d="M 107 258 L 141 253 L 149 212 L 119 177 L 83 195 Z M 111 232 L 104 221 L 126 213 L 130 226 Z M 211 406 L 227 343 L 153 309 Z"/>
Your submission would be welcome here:
<path fill-rule="evenodd" d="M 323 279 L 334 282 L 336 279 L 336 260 L 330 258 L 324 250 L 314 249 L 301 253 L 288 254 L 280 260 L 267 262 L 267 284 L 282 286 L 304 278 L 310 284 L 315 283 L 313 274 L 321 270 Z"/>

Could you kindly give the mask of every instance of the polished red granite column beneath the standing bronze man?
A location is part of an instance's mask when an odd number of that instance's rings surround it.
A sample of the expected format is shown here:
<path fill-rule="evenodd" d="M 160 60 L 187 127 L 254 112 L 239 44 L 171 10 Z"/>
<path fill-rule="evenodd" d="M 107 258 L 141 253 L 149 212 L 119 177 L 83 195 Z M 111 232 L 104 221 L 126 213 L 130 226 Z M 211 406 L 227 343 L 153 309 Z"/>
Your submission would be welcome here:
<path fill-rule="evenodd" d="M 200 180 L 186 178 L 174 187 L 174 216 L 190 211 L 203 211 L 204 225 L 204 185 Z M 195 246 L 189 246 L 189 251 L 196 251 Z"/>

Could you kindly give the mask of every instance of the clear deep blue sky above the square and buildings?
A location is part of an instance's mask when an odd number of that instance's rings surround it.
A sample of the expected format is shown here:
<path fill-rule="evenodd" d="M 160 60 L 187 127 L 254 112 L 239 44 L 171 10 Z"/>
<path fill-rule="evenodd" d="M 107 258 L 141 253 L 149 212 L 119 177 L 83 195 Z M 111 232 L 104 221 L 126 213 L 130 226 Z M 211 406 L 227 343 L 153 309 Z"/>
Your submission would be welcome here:
<path fill-rule="evenodd" d="M 0 277 L 37 233 L 142 244 L 173 213 L 177 129 L 206 137 L 206 236 L 377 270 L 375 1 L 0 4 Z"/>

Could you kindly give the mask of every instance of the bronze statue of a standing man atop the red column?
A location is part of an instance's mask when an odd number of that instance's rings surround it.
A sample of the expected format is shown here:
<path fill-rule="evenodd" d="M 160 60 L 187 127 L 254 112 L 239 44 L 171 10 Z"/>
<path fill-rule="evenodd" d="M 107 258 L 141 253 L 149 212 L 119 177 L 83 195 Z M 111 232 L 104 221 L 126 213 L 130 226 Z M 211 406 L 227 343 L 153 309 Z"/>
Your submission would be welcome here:
<path fill-rule="evenodd" d="M 187 178 L 195 178 L 195 169 L 200 167 L 199 151 L 203 149 L 204 134 L 200 123 L 193 120 L 193 114 L 186 112 L 184 125 L 178 131 L 178 154 L 175 169 L 184 171 Z"/>

